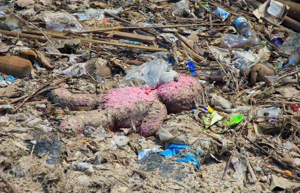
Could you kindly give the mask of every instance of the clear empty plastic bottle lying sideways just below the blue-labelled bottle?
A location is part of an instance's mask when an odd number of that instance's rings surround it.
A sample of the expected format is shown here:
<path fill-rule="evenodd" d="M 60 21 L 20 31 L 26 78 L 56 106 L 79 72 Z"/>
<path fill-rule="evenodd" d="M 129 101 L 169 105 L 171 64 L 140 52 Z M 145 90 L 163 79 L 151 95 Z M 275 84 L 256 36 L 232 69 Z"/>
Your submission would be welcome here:
<path fill-rule="evenodd" d="M 261 41 L 258 37 L 246 38 L 245 36 L 235 34 L 221 35 L 220 47 L 222 48 L 249 48 L 258 45 L 265 46 L 265 42 Z"/>

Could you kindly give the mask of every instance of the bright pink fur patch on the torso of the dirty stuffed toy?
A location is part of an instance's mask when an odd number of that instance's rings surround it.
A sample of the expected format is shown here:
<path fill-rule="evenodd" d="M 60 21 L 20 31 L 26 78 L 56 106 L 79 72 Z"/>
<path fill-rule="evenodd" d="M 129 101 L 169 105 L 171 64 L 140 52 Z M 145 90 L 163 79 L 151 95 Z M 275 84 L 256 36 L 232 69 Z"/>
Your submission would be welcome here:
<path fill-rule="evenodd" d="M 132 109 L 138 102 L 152 103 L 157 100 L 155 92 L 145 93 L 144 88 L 125 87 L 109 91 L 103 98 L 102 108 Z"/>

